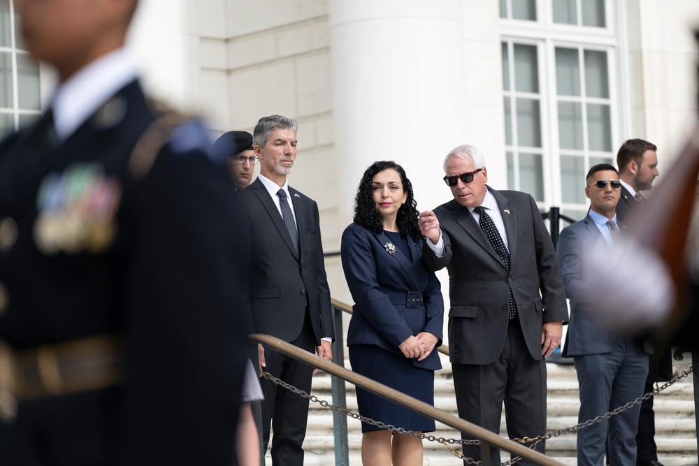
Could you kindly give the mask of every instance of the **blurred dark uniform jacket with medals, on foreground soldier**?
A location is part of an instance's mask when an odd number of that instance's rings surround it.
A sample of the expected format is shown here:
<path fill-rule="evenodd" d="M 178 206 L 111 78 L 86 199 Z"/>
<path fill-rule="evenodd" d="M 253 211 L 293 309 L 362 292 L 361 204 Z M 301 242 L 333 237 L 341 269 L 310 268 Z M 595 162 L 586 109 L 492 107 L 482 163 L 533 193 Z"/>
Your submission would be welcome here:
<path fill-rule="evenodd" d="M 120 384 L 20 402 L 3 464 L 230 463 L 247 330 L 233 187 L 201 126 L 154 121 L 134 81 L 62 143 L 39 122 L 0 145 L 0 339 L 123 348 Z"/>

